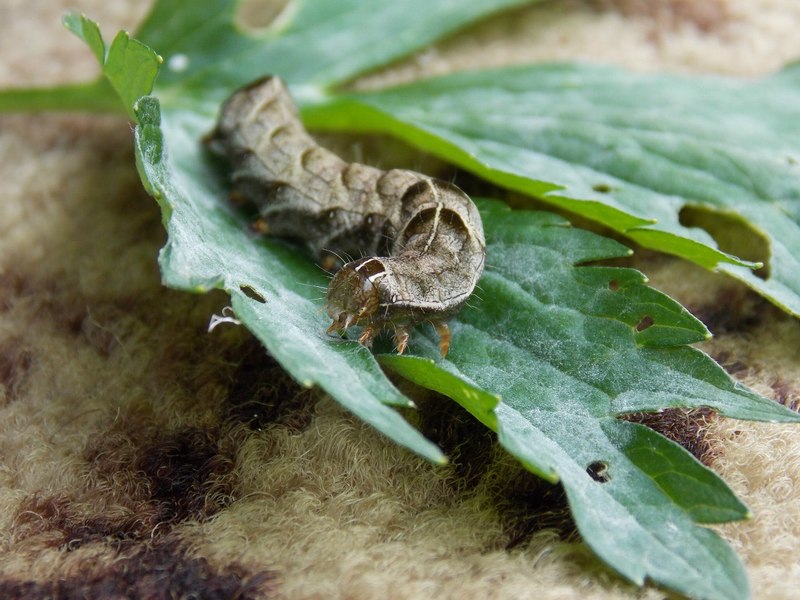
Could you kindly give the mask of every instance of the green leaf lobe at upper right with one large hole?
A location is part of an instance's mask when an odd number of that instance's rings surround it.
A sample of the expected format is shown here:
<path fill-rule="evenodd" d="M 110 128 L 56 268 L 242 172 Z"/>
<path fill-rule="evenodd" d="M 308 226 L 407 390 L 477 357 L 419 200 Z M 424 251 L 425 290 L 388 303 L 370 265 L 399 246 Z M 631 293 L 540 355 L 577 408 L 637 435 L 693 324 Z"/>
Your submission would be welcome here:
<path fill-rule="evenodd" d="M 328 98 L 305 116 L 316 127 L 390 131 L 729 273 L 800 316 L 800 64 L 758 81 L 574 64 L 475 71 Z M 681 224 L 687 206 L 749 223 L 766 238 L 769 271 L 753 273 L 754 263 Z"/>

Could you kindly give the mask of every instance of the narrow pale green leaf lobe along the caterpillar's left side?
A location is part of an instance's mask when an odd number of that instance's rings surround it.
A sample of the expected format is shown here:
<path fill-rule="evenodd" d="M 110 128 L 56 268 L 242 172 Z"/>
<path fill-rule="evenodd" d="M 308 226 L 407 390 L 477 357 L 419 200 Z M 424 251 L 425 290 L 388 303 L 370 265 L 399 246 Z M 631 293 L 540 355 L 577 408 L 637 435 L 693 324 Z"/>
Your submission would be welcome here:
<path fill-rule="evenodd" d="M 226 197 L 198 140 L 207 121 L 190 112 L 161 122 L 158 100 L 139 101 L 135 144 L 142 180 L 159 202 L 169 234 L 159 257 L 163 281 L 194 292 L 221 288 L 270 354 L 305 386 L 319 385 L 343 406 L 419 455 L 442 452 L 387 405 L 409 406 L 357 344 L 325 335 L 322 271 L 277 240 L 255 240 Z M 169 150 L 165 144 L 169 140 Z"/>

